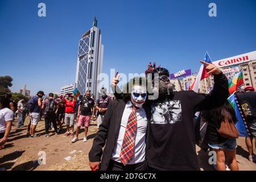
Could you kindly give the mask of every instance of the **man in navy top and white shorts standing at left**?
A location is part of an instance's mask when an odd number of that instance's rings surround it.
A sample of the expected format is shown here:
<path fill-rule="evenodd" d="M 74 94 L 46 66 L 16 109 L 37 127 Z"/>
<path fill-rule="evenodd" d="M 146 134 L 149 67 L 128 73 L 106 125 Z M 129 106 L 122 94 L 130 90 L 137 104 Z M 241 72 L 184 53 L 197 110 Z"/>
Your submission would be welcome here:
<path fill-rule="evenodd" d="M 42 97 L 44 96 L 43 91 L 39 91 L 36 96 L 32 97 L 30 101 L 28 101 L 28 104 L 31 103 L 30 106 L 30 137 L 38 137 L 38 135 L 35 134 L 36 125 L 38 125 L 38 121 L 40 119 L 40 108 L 42 107 Z"/>

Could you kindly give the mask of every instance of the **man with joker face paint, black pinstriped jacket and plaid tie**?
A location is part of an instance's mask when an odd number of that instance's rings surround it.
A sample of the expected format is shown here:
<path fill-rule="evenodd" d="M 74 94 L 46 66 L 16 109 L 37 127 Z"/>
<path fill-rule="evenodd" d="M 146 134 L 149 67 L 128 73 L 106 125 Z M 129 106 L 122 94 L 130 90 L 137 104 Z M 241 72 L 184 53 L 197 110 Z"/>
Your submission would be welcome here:
<path fill-rule="evenodd" d="M 147 92 L 143 79 L 146 80 L 142 77 L 131 79 L 125 87 L 127 94 L 121 100 L 110 101 L 89 152 L 92 170 L 146 170 L 146 130 L 150 109 L 144 107 Z"/>

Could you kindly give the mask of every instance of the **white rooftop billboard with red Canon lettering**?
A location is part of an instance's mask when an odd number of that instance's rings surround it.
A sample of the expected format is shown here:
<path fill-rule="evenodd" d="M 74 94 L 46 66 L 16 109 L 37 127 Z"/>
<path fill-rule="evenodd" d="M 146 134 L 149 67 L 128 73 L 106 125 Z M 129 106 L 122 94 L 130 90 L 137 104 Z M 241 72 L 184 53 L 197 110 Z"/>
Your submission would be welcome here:
<path fill-rule="evenodd" d="M 221 68 L 221 67 L 228 67 L 231 65 L 245 63 L 250 60 L 256 60 L 256 51 L 243 53 L 242 55 L 228 57 L 226 59 L 222 59 L 218 61 L 213 61 L 213 64 L 215 64 L 218 68 Z"/>

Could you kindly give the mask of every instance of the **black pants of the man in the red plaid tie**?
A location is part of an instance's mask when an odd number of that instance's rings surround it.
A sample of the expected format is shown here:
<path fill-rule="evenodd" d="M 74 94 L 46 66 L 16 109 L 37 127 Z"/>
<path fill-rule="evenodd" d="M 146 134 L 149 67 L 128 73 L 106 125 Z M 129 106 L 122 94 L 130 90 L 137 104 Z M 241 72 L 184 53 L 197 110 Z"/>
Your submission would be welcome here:
<path fill-rule="evenodd" d="M 110 160 L 107 171 L 146 171 L 146 161 L 124 166 L 122 163 Z"/>

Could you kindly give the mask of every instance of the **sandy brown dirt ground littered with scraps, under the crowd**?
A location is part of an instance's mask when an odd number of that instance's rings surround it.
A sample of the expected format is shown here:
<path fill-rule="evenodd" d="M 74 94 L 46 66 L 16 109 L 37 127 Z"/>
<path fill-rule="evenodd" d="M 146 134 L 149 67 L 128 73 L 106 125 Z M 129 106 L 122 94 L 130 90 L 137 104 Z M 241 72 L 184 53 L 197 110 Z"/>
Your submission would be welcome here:
<path fill-rule="evenodd" d="M 88 166 L 88 152 L 92 146 L 93 138 L 96 136 L 97 123 L 92 121 L 89 127 L 88 140 L 83 142 L 84 129 L 80 131 L 79 141 L 72 143 L 72 138 L 64 137 L 65 130 L 59 135 L 54 135 L 52 130 L 50 137 L 46 138 L 44 133 L 44 121 L 38 123 L 36 129 L 40 136 L 36 138 L 27 137 L 27 125 L 29 118 L 26 118 L 24 127 L 17 128 L 18 121 L 13 124 L 9 140 L 5 148 L 0 150 L 0 169 L 3 170 L 38 170 L 38 171 L 65 171 L 65 170 L 90 170 Z M 76 125 L 75 125 L 76 127 Z M 64 127 L 65 129 L 65 127 Z M 237 140 L 237 161 L 241 171 L 256 171 L 256 163 L 249 162 L 245 138 Z M 213 166 L 208 163 L 208 152 L 200 150 L 196 146 L 201 170 L 212 171 Z M 40 151 L 46 154 L 46 164 L 39 165 Z M 70 157 L 70 160 L 64 158 Z"/>

